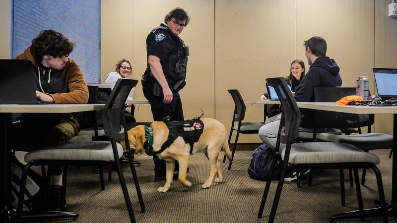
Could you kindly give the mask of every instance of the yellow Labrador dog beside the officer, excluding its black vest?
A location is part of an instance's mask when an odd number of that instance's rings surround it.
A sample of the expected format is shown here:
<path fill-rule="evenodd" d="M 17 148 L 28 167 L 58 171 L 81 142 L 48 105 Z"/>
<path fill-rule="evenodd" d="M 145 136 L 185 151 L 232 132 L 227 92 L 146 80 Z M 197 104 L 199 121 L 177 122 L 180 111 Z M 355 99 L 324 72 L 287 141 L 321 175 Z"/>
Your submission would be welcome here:
<path fill-rule="evenodd" d="M 203 132 L 199 141 L 194 144 L 192 154 L 203 152 L 208 158 L 211 172 L 208 179 L 202 184 L 202 188 L 209 188 L 216 175 L 215 182 L 223 181 L 222 170 L 218 161 L 221 147 L 223 147 L 229 161 L 232 159 L 232 155 L 227 142 L 227 131 L 225 126 L 212 118 L 201 118 L 201 120 L 204 123 Z M 153 151 L 156 152 L 161 149 L 161 146 L 167 140 L 169 130 L 167 125 L 162 121 L 153 122 L 151 127 L 153 130 Z M 128 131 L 128 136 L 131 149 L 135 149 L 138 155 L 144 153 L 144 125 L 138 125 L 130 129 Z M 125 144 L 122 143 L 122 145 L 125 148 Z M 190 145 L 185 143 L 184 139 L 179 136 L 167 149 L 155 155 L 158 156 L 159 159 L 164 160 L 166 166 L 166 181 L 163 187 L 158 188 L 158 192 L 166 192 L 170 188 L 173 179 L 175 160 L 179 162 L 179 181 L 187 187 L 192 186 L 192 183 L 186 180 L 190 150 Z"/>

